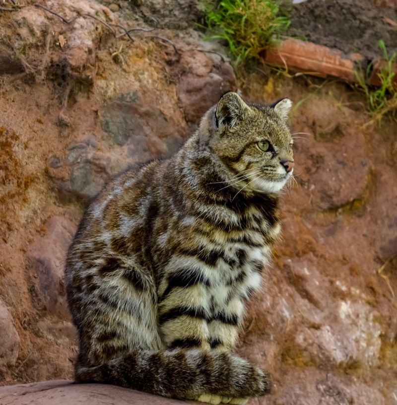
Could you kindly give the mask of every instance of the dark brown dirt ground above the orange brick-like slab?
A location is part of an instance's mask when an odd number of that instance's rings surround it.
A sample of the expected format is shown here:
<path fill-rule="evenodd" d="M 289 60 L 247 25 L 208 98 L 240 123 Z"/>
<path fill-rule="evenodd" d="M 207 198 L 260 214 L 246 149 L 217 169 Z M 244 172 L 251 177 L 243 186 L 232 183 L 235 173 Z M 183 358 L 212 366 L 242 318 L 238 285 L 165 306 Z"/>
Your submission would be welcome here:
<path fill-rule="evenodd" d="M 397 8 L 373 0 L 308 0 L 292 7 L 289 34 L 371 60 L 381 56 L 383 39 L 397 52 Z"/>

